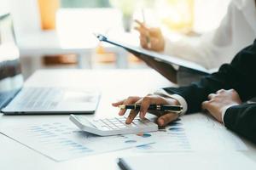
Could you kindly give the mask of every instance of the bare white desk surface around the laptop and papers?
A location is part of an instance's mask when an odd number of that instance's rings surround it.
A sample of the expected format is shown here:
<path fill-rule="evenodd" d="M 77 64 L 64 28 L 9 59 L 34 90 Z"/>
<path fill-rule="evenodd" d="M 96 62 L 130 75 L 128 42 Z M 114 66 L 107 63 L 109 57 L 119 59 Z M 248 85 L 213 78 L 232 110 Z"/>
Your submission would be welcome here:
<path fill-rule="evenodd" d="M 111 106 L 116 99 L 129 95 L 145 95 L 156 88 L 172 86 L 165 78 L 152 70 L 47 70 L 37 71 L 26 82 L 26 86 L 88 87 L 102 90 L 98 110 L 92 116 L 116 116 L 117 109 Z M 19 126 L 26 122 L 48 122 L 65 120 L 68 116 L 0 116 L 0 127 Z M 248 151 L 244 155 L 256 160 L 256 146 L 247 142 Z M 0 169 L 119 169 L 119 156 L 140 156 L 131 150 L 120 150 L 95 156 L 86 156 L 71 161 L 55 162 L 28 149 L 26 146 L 0 134 Z M 255 161 L 256 162 L 256 161 Z"/>

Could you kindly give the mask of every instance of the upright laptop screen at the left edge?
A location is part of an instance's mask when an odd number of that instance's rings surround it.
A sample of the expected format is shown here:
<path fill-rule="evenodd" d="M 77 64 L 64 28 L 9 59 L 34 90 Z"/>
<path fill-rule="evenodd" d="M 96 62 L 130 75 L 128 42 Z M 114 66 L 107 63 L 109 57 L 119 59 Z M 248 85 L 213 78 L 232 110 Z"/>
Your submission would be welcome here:
<path fill-rule="evenodd" d="M 10 14 L 0 15 L 0 109 L 23 85 L 20 54 Z"/>

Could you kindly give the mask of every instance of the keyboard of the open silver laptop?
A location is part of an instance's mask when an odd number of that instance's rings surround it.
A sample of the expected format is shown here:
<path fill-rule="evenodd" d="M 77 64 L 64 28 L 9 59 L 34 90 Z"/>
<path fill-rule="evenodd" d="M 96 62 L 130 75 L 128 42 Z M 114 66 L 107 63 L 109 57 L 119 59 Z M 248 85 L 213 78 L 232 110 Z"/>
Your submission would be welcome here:
<path fill-rule="evenodd" d="M 55 108 L 63 97 L 60 88 L 23 88 L 17 98 L 17 105 L 22 108 Z"/>

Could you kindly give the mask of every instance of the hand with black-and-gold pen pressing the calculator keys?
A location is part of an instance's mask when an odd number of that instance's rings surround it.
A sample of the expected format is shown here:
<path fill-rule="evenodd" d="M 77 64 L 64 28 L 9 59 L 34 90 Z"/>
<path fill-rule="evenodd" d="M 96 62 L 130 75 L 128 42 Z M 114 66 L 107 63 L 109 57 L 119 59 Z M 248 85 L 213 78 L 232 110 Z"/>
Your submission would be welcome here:
<path fill-rule="evenodd" d="M 180 111 L 182 111 L 182 107 L 179 105 L 179 103 L 176 99 L 165 98 L 160 95 L 148 95 L 143 98 L 133 96 L 133 97 L 129 97 L 127 99 L 123 99 L 119 102 L 113 103 L 112 105 L 115 107 L 119 107 L 120 105 L 125 105 L 125 106 L 133 105 L 133 107 L 134 107 L 134 105 L 135 105 L 135 108 L 130 111 L 129 116 L 127 117 L 127 120 L 126 120 L 127 124 L 130 124 L 132 122 L 132 120 L 137 116 L 137 114 L 139 114 L 139 116 L 141 118 L 144 118 L 146 113 L 149 112 L 149 113 L 154 114 L 155 116 L 158 116 L 157 123 L 160 126 L 165 126 L 169 122 L 176 120 L 177 117 L 179 116 Z M 137 105 L 139 105 L 139 109 L 138 109 Z M 152 105 L 155 107 L 157 107 L 157 105 L 168 105 L 168 106 L 176 105 L 177 107 L 175 107 L 175 108 L 178 111 L 171 111 L 171 110 L 158 111 L 157 109 L 149 110 L 150 105 L 151 105 L 151 107 L 152 107 Z M 174 107 L 172 109 L 174 109 Z M 127 109 L 120 109 L 119 116 L 125 115 L 126 110 Z"/>

